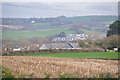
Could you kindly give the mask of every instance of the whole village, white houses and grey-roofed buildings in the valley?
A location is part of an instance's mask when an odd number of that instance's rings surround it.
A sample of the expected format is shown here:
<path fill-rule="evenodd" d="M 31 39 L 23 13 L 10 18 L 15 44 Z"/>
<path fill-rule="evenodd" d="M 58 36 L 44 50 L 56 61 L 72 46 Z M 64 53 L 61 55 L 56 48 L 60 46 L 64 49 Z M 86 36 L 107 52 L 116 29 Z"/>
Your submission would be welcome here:
<path fill-rule="evenodd" d="M 24 51 L 24 50 L 43 50 L 43 49 L 81 49 L 79 43 L 76 40 L 97 40 L 105 38 L 105 35 L 100 34 L 65 34 L 61 32 L 59 35 L 50 40 L 49 43 L 30 44 L 29 46 L 19 47 L 14 45 L 13 47 L 5 47 L 3 44 L 3 51 Z M 87 44 L 87 43 L 86 43 Z"/>

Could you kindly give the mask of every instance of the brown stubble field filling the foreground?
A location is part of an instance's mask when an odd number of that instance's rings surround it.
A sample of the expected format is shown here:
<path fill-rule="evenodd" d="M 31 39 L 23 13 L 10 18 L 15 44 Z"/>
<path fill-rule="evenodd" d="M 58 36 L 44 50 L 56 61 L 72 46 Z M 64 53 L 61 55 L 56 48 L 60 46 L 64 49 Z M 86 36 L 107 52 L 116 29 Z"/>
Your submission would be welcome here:
<path fill-rule="evenodd" d="M 2 65 L 15 77 L 59 78 L 67 74 L 72 78 L 99 78 L 107 73 L 118 77 L 117 60 L 3 56 Z"/>

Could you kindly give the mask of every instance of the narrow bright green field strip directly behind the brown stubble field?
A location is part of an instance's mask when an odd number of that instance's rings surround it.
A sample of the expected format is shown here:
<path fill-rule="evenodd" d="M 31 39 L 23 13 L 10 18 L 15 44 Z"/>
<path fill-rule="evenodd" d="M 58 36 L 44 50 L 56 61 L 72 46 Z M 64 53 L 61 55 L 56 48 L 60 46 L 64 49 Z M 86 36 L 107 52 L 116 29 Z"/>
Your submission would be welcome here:
<path fill-rule="evenodd" d="M 58 54 L 30 54 L 23 56 L 60 57 L 60 58 L 118 58 L 118 52 L 93 52 L 93 53 L 58 53 Z"/>

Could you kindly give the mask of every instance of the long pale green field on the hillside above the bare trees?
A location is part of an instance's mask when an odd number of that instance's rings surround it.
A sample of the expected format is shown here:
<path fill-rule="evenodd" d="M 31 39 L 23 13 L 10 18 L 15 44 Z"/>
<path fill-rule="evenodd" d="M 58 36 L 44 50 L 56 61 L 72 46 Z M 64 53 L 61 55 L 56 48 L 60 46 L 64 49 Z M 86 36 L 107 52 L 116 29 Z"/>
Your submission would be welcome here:
<path fill-rule="evenodd" d="M 38 31 L 3 31 L 2 38 L 18 40 L 20 38 L 47 37 L 50 35 L 59 34 L 61 32 L 65 32 L 66 34 L 75 33 L 75 31 L 71 31 L 69 28 L 57 28 Z"/>

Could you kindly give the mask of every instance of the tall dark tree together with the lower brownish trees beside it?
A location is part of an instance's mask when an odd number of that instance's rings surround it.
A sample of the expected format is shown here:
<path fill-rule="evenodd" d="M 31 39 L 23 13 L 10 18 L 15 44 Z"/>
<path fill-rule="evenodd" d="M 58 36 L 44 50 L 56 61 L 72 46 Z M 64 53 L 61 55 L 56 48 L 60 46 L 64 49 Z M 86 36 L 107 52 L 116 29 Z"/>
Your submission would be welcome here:
<path fill-rule="evenodd" d="M 81 48 L 103 48 L 103 49 L 113 49 L 120 48 L 120 21 L 115 21 L 109 26 L 107 32 L 107 37 L 102 39 L 86 39 L 86 40 L 77 40 Z"/>

